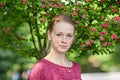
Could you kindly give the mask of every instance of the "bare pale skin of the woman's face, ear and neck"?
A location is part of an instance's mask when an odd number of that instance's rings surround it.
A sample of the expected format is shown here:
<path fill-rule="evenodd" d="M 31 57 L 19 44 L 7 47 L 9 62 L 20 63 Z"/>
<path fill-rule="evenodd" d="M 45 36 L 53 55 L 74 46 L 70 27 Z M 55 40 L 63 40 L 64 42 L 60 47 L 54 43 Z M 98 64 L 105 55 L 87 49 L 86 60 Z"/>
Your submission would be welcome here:
<path fill-rule="evenodd" d="M 48 31 L 48 39 L 51 41 L 50 53 L 45 59 L 66 67 L 71 67 L 65 53 L 71 47 L 74 40 L 74 26 L 70 23 L 59 22 L 54 25 L 52 32 Z"/>

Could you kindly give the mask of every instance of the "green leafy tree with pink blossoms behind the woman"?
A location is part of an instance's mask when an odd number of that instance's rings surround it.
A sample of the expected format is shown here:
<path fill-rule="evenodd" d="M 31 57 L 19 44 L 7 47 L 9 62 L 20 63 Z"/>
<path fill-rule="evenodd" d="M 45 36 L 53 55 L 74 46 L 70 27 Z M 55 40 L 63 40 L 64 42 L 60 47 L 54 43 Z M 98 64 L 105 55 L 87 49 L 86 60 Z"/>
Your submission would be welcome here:
<path fill-rule="evenodd" d="M 120 42 L 119 0 L 2 0 L 0 47 L 42 58 L 49 48 L 46 37 L 49 21 L 64 12 L 72 16 L 76 28 L 76 41 L 69 55 L 112 53 L 114 44 Z M 27 27 L 30 37 L 18 32 Z"/>

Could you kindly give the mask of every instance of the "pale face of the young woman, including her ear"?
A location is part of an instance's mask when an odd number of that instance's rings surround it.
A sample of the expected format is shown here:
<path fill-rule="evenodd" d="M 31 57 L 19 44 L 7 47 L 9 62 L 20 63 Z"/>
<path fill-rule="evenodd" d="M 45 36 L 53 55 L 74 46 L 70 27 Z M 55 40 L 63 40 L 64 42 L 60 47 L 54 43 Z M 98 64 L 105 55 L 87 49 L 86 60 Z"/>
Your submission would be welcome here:
<path fill-rule="evenodd" d="M 51 33 L 48 32 L 48 38 L 51 40 L 51 50 L 65 53 L 73 43 L 74 26 L 66 22 L 59 22 L 55 24 Z"/>

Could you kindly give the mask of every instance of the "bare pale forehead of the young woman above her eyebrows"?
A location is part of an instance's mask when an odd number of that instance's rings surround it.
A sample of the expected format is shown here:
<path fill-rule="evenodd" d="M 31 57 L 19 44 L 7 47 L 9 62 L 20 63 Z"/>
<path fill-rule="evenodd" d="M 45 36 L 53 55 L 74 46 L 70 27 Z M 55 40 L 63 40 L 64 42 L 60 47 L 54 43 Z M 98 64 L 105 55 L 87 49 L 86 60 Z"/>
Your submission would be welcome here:
<path fill-rule="evenodd" d="M 54 32 L 74 33 L 74 26 L 67 22 L 58 22 L 53 27 Z"/>

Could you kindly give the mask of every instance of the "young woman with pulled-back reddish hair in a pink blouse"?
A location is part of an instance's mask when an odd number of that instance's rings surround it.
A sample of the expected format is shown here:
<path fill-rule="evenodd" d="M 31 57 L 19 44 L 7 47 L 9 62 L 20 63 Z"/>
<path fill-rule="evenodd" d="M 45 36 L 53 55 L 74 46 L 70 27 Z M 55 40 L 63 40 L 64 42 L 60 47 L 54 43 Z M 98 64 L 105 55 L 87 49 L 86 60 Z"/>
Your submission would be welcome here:
<path fill-rule="evenodd" d="M 81 80 L 80 66 L 66 58 L 66 52 L 74 42 L 72 19 L 60 14 L 55 16 L 47 32 L 51 42 L 50 52 L 35 64 L 28 80 Z"/>

